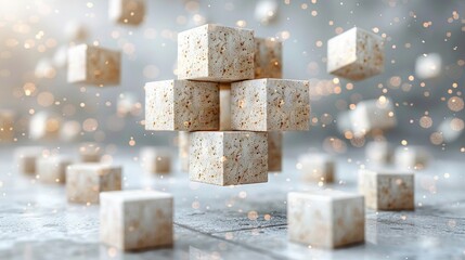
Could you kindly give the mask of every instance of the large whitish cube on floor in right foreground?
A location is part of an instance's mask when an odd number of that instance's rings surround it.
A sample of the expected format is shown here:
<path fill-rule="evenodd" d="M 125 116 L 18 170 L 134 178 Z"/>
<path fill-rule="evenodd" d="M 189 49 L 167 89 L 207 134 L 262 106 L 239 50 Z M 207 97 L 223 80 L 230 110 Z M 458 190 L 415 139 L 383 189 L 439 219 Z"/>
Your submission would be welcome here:
<path fill-rule="evenodd" d="M 293 242 L 321 248 L 362 243 L 365 237 L 363 196 L 338 191 L 287 195 L 287 229 Z"/>

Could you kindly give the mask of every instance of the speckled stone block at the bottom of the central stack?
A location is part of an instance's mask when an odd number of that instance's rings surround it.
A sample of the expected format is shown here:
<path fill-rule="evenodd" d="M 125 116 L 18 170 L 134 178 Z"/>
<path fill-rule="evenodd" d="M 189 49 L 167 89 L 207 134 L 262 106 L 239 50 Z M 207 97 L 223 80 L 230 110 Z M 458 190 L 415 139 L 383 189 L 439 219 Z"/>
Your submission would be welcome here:
<path fill-rule="evenodd" d="M 190 134 L 191 181 L 216 185 L 268 182 L 268 134 L 193 132 Z"/>

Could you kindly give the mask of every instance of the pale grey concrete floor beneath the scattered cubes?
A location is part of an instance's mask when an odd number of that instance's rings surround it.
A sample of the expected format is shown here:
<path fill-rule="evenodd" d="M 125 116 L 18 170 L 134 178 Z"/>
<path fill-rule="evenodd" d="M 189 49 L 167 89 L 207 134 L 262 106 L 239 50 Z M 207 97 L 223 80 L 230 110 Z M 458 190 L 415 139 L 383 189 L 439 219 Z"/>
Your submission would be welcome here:
<path fill-rule="evenodd" d="M 415 211 L 367 210 L 365 244 L 320 250 L 287 242 L 287 192 L 320 188 L 300 182 L 294 156 L 269 183 L 233 187 L 193 183 L 179 171 L 143 174 L 133 155 L 116 156 L 124 188 L 166 191 L 176 206 L 172 248 L 124 253 L 99 243 L 99 206 L 68 204 L 64 186 L 18 174 L 10 153 L 0 156 L 0 259 L 465 259 L 460 161 L 437 160 L 417 172 Z M 337 184 L 327 187 L 356 192 L 360 164 L 340 158 Z"/>

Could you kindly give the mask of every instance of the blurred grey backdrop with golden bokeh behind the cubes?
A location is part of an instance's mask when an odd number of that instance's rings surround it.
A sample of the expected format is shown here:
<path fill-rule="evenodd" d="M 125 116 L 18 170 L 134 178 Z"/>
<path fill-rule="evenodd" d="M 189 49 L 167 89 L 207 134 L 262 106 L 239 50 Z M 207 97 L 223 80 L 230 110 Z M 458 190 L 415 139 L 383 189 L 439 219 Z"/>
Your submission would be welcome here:
<path fill-rule="evenodd" d="M 143 112 L 137 116 L 117 115 L 117 103 L 121 93 L 130 92 L 143 107 L 145 82 L 176 78 L 177 32 L 208 22 L 241 25 L 254 29 L 256 36 L 283 40 L 284 78 L 312 79 L 313 127 L 309 132 L 286 133 L 287 147 L 322 147 L 334 140 L 347 148 L 363 146 L 370 138 L 345 139 L 337 131 L 337 115 L 350 104 L 384 94 L 395 102 L 398 117 L 398 127 L 387 133 L 387 140 L 461 153 L 465 146 L 463 134 L 444 143 L 437 140 L 435 132 L 444 118 L 464 119 L 464 110 L 451 109 L 448 101 L 453 96 L 463 101 L 465 1 L 276 2 L 275 20 L 264 24 L 255 17 L 259 1 L 148 0 L 145 21 L 132 27 L 112 23 L 108 3 L 103 0 L 1 1 L 0 108 L 15 110 L 15 136 L 21 144 L 36 143 L 28 139 L 27 121 L 41 110 L 87 123 L 74 142 L 135 147 L 171 144 L 176 133 L 144 131 Z M 66 67 L 54 64 L 53 58 L 61 47 L 69 43 L 66 28 L 72 24 L 86 27 L 87 43 L 121 50 L 120 86 L 95 88 L 66 82 Z M 335 79 L 326 73 L 326 41 L 353 26 L 386 39 L 385 73 L 360 82 Z M 415 60 L 425 53 L 439 53 L 442 57 L 439 77 L 422 80 L 415 75 Z M 60 61 L 60 54 L 55 58 Z M 46 77 L 40 76 L 43 69 Z M 426 121 L 432 120 L 431 126 L 421 126 L 419 119 L 425 115 L 430 117 L 424 118 Z M 52 141 L 55 145 L 61 142 Z"/>

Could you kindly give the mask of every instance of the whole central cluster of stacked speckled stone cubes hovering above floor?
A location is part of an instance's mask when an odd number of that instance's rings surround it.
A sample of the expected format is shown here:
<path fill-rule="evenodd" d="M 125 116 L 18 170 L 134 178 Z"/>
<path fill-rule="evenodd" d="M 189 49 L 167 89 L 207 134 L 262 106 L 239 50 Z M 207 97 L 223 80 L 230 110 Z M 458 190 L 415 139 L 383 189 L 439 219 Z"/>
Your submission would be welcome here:
<path fill-rule="evenodd" d="M 309 82 L 281 78 L 281 42 L 249 29 L 208 24 L 178 35 L 178 79 L 145 84 L 145 129 L 184 131 L 192 181 L 261 183 L 281 171 L 282 131 L 310 126 Z"/>

